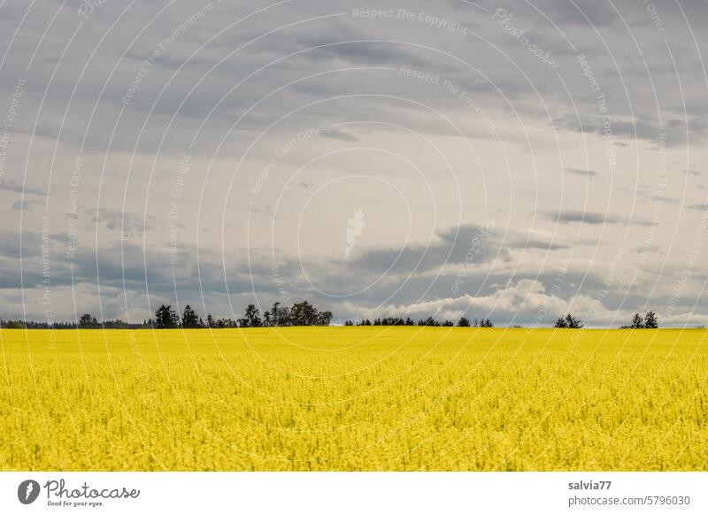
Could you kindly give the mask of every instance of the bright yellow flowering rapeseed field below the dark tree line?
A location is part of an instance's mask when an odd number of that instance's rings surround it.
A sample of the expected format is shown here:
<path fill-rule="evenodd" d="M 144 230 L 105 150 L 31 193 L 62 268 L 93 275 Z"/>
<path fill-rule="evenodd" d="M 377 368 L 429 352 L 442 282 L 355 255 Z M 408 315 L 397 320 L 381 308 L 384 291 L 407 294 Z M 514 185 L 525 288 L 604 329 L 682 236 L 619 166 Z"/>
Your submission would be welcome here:
<path fill-rule="evenodd" d="M 0 467 L 700 471 L 708 332 L 0 331 Z"/>

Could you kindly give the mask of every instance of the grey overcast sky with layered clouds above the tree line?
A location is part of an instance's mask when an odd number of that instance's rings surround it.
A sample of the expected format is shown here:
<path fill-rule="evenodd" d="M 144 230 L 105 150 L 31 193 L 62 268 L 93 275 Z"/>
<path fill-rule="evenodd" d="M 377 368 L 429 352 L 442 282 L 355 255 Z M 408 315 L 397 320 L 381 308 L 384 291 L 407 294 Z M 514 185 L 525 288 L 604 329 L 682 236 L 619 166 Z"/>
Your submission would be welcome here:
<path fill-rule="evenodd" d="M 706 27 L 704 0 L 0 0 L 0 318 L 708 324 Z"/>

